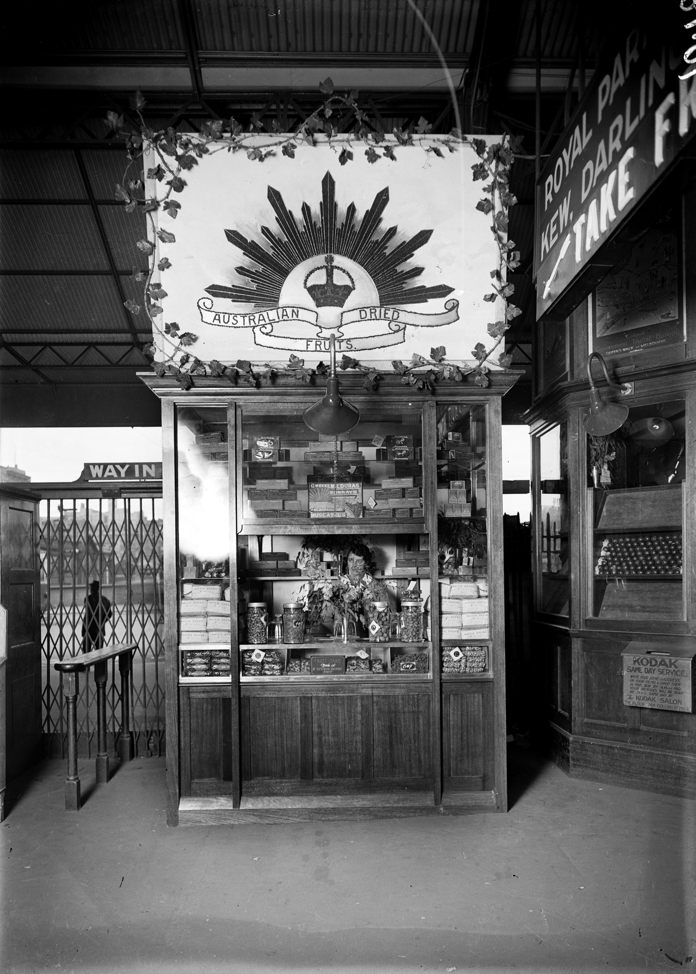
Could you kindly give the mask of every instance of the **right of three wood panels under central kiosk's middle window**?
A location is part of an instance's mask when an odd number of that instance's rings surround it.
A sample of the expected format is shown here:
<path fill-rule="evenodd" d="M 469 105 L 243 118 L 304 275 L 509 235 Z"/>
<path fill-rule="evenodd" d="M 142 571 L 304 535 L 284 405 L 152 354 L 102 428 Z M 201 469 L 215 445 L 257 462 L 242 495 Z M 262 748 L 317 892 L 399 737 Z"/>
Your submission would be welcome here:
<path fill-rule="evenodd" d="M 432 774 L 430 696 L 403 693 L 372 697 L 375 778 Z"/>

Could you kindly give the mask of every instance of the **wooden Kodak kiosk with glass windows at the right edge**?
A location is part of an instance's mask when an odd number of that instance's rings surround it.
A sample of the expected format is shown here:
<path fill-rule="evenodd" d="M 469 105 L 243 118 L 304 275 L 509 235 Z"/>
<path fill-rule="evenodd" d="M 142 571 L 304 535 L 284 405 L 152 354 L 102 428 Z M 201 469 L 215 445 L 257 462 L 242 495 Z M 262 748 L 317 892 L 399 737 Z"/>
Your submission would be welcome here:
<path fill-rule="evenodd" d="M 625 704 L 622 654 L 659 640 L 665 653 L 696 655 L 696 346 L 690 337 L 678 367 L 610 362 L 633 383 L 629 416 L 591 439 L 587 308 L 568 322 L 571 381 L 530 413 L 537 713 L 570 774 L 694 797 L 696 715 Z"/>

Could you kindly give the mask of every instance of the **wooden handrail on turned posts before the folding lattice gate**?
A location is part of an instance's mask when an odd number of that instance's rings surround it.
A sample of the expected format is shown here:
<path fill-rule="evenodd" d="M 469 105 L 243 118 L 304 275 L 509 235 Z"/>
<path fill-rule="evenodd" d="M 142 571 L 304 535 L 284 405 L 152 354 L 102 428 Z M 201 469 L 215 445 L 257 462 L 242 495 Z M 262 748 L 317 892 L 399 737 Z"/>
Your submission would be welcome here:
<path fill-rule="evenodd" d="M 136 643 L 116 643 L 103 650 L 93 650 L 80 656 L 70 656 L 54 663 L 54 669 L 62 675 L 62 691 L 65 696 L 67 721 L 67 777 L 65 778 L 65 809 L 79 811 L 80 778 L 77 773 L 77 697 L 80 693 L 80 673 L 90 667 L 95 668 L 97 684 L 97 784 L 109 780 L 109 754 L 106 747 L 106 680 L 108 661 L 118 656 L 121 674 L 121 731 L 118 735 L 117 749 L 121 761 L 133 761 L 135 745 L 131 726 L 131 698 L 129 674 L 133 666 Z"/>

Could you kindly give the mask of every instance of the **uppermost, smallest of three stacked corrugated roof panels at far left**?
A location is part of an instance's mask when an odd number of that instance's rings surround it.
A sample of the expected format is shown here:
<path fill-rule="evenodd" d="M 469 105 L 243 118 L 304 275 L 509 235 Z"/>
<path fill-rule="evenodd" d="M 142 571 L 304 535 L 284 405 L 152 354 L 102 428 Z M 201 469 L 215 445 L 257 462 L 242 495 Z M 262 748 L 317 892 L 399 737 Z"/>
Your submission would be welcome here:
<path fill-rule="evenodd" d="M 0 149 L 0 198 L 80 200 L 85 187 L 70 151 Z"/>

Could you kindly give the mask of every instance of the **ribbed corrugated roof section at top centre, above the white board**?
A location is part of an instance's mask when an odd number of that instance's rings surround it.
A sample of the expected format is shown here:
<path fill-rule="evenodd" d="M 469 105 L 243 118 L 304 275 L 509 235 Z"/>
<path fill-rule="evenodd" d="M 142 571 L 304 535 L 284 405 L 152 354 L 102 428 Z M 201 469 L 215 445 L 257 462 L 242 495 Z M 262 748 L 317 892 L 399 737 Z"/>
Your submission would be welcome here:
<path fill-rule="evenodd" d="M 471 50 L 480 0 L 419 0 L 445 53 Z M 406 0 L 195 0 L 201 51 L 429 54 Z"/>

